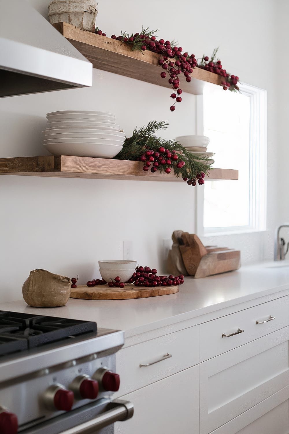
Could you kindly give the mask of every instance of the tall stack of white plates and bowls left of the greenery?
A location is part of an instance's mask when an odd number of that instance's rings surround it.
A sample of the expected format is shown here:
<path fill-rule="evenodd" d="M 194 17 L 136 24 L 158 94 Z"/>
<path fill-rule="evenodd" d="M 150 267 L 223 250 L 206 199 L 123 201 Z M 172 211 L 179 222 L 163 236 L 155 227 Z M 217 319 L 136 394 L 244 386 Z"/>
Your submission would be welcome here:
<path fill-rule="evenodd" d="M 113 158 L 123 147 L 125 134 L 111 113 L 66 110 L 46 118 L 43 146 L 53 155 Z"/>

